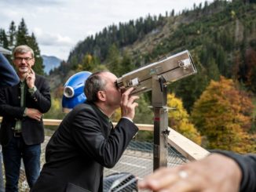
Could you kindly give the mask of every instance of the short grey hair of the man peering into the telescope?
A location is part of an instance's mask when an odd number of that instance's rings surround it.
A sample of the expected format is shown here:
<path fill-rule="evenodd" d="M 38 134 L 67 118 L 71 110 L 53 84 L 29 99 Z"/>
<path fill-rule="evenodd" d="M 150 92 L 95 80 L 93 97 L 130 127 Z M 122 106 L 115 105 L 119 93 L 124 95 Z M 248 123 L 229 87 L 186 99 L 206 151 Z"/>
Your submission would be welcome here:
<path fill-rule="evenodd" d="M 106 81 L 101 77 L 101 74 L 108 71 L 97 71 L 91 74 L 85 82 L 84 92 L 86 100 L 89 102 L 97 102 L 97 92 L 104 90 Z"/>

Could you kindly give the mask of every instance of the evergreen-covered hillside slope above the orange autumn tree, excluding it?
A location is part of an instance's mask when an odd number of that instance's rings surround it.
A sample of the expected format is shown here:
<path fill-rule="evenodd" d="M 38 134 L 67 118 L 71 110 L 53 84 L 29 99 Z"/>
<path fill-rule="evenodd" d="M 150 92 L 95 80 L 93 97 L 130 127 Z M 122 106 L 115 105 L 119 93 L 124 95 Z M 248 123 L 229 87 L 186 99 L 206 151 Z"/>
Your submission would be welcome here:
<path fill-rule="evenodd" d="M 108 26 L 79 42 L 54 74 L 107 67 L 118 76 L 158 58 L 188 49 L 199 74 L 170 86 L 190 110 L 220 75 L 256 92 L 256 8 L 253 1 L 214 1 L 192 10 L 147 16 Z M 103 65 L 103 66 L 102 66 Z M 71 72 L 70 70 L 74 70 Z M 189 93 L 189 94 L 188 94 Z M 189 98 L 187 98 L 189 96 Z"/>

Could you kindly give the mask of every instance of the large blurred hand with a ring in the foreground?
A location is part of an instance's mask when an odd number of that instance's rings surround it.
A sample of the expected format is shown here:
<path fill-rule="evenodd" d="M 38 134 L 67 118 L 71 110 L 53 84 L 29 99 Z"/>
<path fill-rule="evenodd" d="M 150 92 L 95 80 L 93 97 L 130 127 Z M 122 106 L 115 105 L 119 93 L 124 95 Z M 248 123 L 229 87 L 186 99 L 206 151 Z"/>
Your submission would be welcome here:
<path fill-rule="evenodd" d="M 138 187 L 161 192 L 238 192 L 241 174 L 239 166 L 231 158 L 210 154 L 185 165 L 159 168 L 139 181 Z"/>

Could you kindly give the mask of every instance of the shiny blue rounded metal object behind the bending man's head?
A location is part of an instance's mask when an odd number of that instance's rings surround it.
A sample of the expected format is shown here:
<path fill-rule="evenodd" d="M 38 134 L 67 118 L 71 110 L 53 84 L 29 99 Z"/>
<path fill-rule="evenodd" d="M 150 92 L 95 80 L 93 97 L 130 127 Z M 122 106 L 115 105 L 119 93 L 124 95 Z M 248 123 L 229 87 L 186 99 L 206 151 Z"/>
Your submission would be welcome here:
<path fill-rule="evenodd" d="M 68 81 L 64 84 L 62 97 L 62 109 L 64 112 L 68 113 L 77 104 L 85 102 L 86 95 L 83 89 L 90 74 L 92 73 L 89 71 L 81 71 L 68 78 Z"/>

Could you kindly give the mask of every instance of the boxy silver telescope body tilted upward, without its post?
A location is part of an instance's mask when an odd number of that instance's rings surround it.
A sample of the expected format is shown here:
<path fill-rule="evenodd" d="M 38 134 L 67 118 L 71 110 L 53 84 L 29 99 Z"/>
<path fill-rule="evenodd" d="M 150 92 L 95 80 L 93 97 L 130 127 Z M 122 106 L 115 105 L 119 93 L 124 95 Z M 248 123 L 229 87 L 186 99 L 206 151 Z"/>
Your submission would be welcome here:
<path fill-rule="evenodd" d="M 168 56 L 155 63 L 148 64 L 135 71 L 124 74 L 116 81 L 120 89 L 135 87 L 132 95 L 152 90 L 152 77 L 157 76 L 161 84 L 166 86 L 188 75 L 195 74 L 196 67 L 188 50 Z"/>

